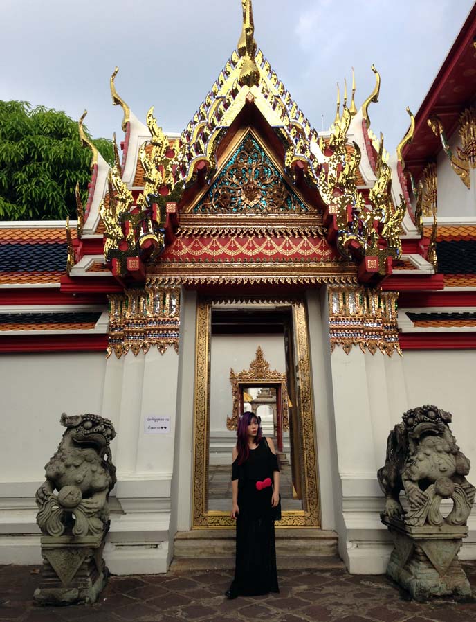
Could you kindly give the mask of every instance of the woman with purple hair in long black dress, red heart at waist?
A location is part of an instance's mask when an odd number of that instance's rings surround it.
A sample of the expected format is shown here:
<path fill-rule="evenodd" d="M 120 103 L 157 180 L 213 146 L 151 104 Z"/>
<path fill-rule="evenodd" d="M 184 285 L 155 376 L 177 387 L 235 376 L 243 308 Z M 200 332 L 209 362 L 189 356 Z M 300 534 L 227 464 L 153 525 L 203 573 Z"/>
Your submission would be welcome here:
<path fill-rule="evenodd" d="M 262 436 L 261 418 L 251 412 L 239 418 L 231 479 L 237 549 L 226 596 L 279 592 L 274 521 L 280 519 L 280 468 L 273 441 Z"/>

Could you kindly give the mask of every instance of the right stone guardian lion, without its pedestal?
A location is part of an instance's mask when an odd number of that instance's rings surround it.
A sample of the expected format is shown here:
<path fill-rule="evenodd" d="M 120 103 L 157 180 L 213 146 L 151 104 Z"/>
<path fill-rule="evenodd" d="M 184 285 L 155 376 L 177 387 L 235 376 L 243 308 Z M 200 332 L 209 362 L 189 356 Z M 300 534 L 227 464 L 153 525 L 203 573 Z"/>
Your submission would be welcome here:
<path fill-rule="evenodd" d="M 390 432 L 385 465 L 377 474 L 387 517 L 400 517 L 411 526 L 466 524 L 476 488 L 466 479 L 470 461 L 459 450 L 449 423 L 450 413 L 425 405 L 405 412 Z M 408 499 L 406 513 L 401 490 Z M 453 501 L 446 518 L 439 511 L 441 499 Z"/>

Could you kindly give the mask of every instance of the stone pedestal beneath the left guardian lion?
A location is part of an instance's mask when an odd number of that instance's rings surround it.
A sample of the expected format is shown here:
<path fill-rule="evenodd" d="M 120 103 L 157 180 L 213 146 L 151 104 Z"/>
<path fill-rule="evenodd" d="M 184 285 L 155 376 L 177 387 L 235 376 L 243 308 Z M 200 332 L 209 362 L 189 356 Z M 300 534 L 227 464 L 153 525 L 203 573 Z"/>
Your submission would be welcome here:
<path fill-rule="evenodd" d="M 104 534 L 42 537 L 42 580 L 35 589 L 41 605 L 95 603 L 107 583 L 102 559 Z"/>

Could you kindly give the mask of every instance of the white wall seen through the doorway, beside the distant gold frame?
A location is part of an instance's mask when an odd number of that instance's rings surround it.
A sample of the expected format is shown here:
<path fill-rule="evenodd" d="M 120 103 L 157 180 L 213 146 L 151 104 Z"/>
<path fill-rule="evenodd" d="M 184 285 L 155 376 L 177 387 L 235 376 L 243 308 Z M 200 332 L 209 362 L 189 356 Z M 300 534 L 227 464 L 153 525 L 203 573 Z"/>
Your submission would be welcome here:
<path fill-rule="evenodd" d="M 271 369 L 286 373 L 282 335 L 212 335 L 210 351 L 210 464 L 230 464 L 236 433 L 226 429 L 233 400 L 230 368 L 248 369 L 261 346 Z"/>

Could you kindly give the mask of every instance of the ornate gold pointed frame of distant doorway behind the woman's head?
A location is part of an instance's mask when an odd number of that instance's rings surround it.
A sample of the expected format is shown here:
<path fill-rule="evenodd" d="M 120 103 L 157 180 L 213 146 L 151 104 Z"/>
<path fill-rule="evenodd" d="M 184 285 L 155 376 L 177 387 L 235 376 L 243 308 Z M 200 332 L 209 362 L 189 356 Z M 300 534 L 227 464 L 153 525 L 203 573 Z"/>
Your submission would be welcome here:
<path fill-rule="evenodd" d="M 276 369 L 269 368 L 269 363 L 264 359 L 261 346 L 258 346 L 255 359 L 250 362 L 249 369 L 244 369 L 237 374 L 235 374 L 235 371 L 230 369 L 230 382 L 232 386 L 233 396 L 233 413 L 231 417 L 227 416 L 226 418 L 227 429 L 237 429 L 240 416 L 238 400 L 239 385 L 246 382 L 250 386 L 253 384 L 281 385 L 283 429 L 285 432 L 289 430 L 288 389 L 286 388 L 286 374 L 280 373 Z"/>

